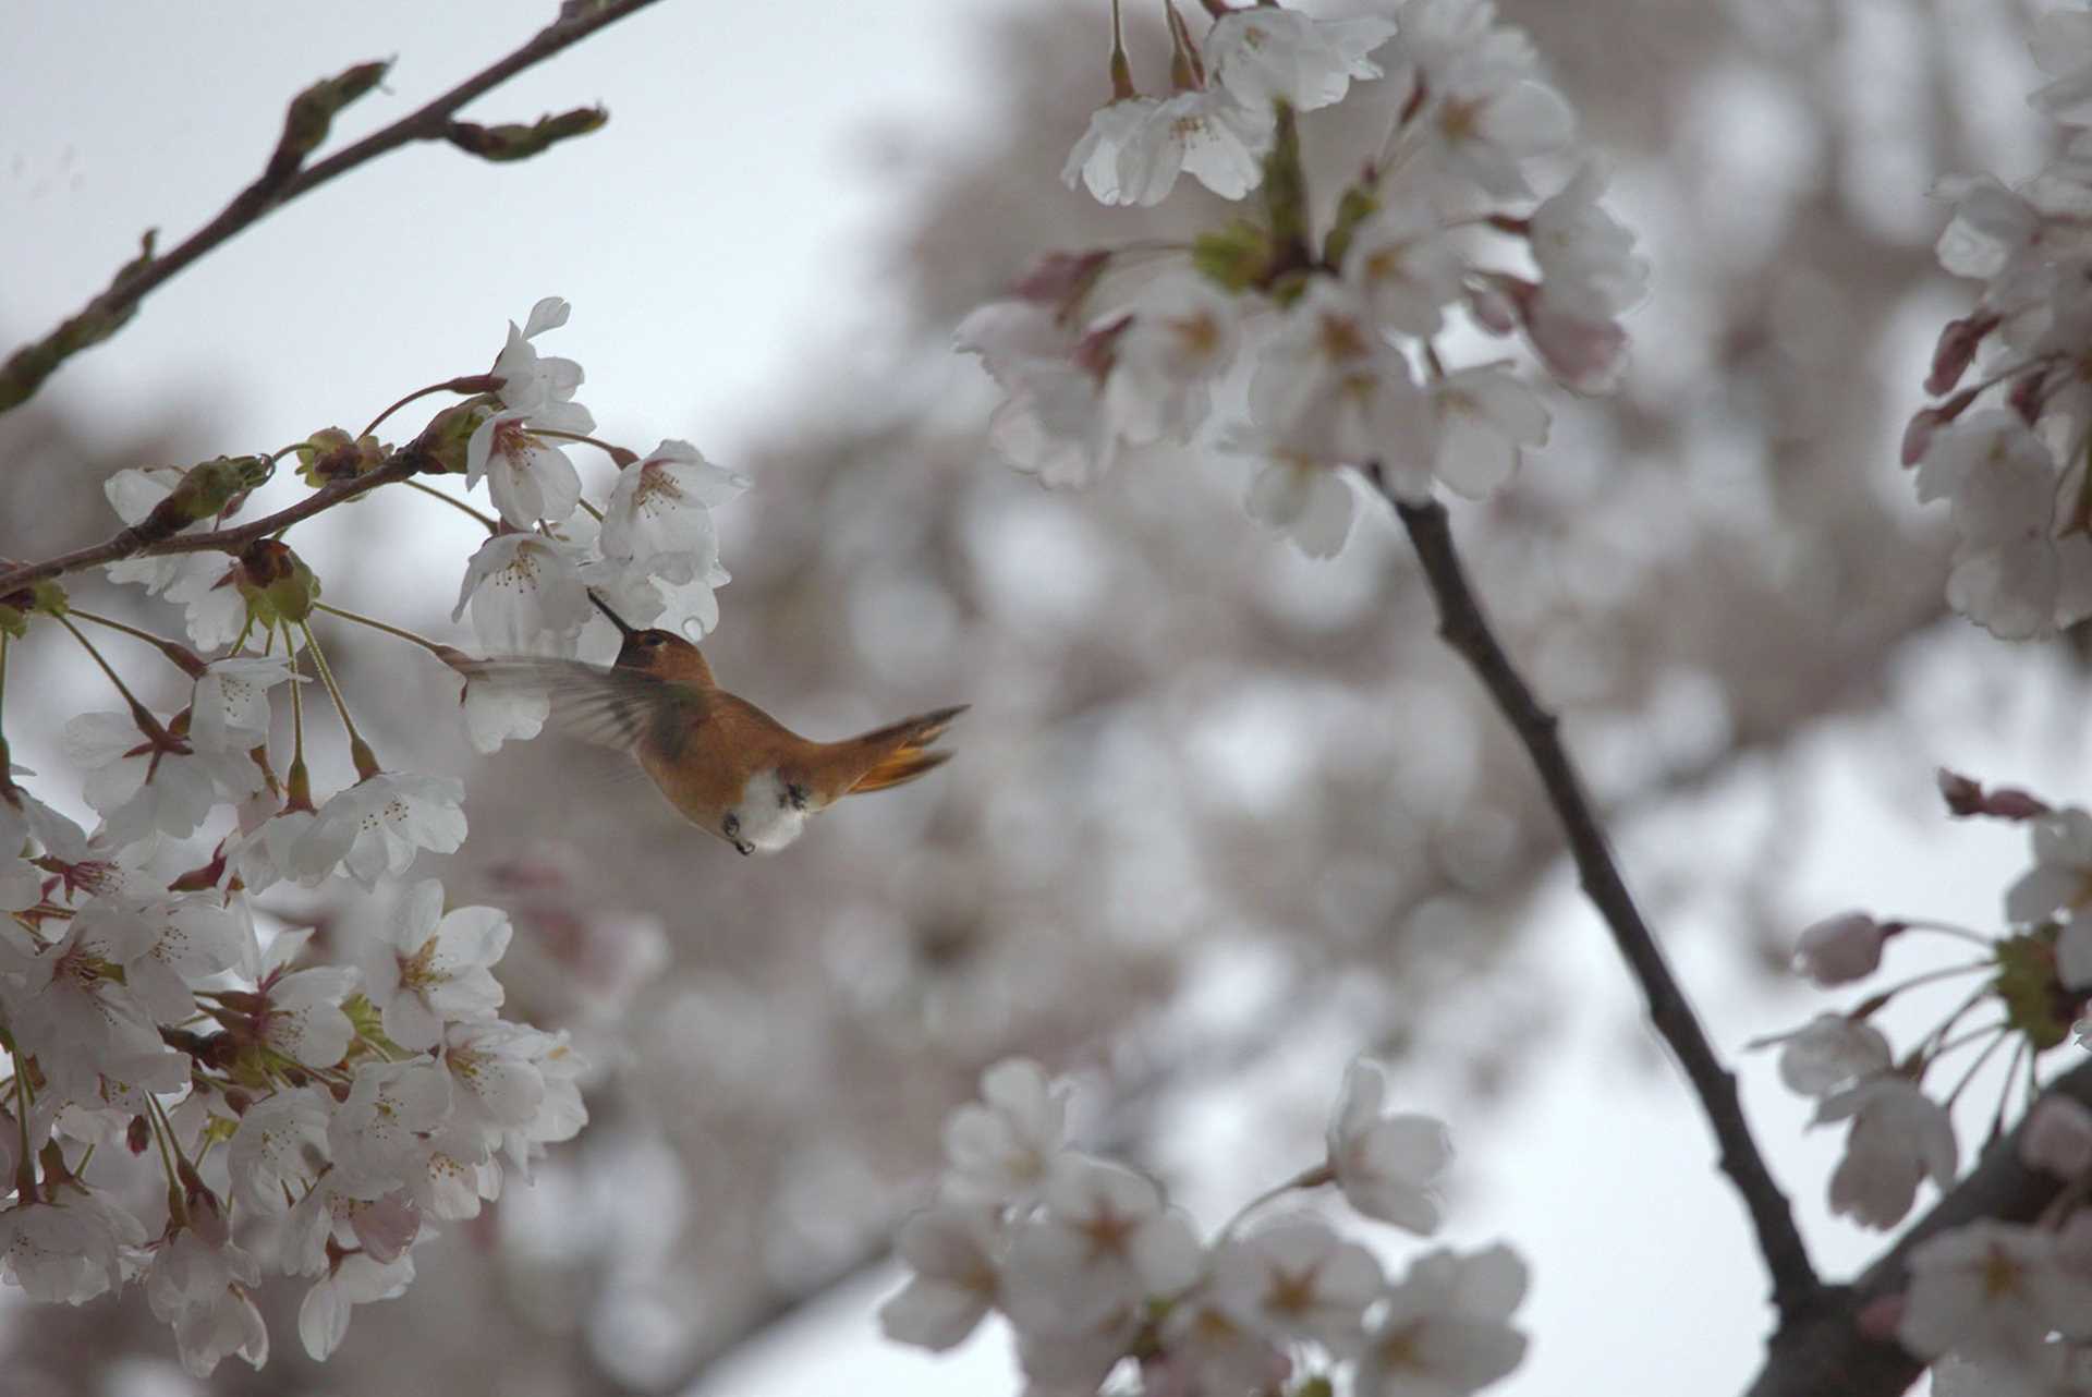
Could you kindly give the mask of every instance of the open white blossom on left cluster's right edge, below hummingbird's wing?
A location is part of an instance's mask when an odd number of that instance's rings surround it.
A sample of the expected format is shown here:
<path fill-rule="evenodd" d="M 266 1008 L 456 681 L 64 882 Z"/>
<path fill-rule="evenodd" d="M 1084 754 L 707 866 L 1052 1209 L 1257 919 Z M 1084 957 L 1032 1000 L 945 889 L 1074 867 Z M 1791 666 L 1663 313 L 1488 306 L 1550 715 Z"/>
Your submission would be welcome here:
<path fill-rule="evenodd" d="M 508 949 L 508 914 L 444 912 L 444 885 L 425 878 L 400 897 L 383 937 L 360 958 L 364 993 L 385 1016 L 385 1037 L 410 1052 L 444 1041 L 446 1021 L 494 1018 L 502 985 L 494 962 Z"/>

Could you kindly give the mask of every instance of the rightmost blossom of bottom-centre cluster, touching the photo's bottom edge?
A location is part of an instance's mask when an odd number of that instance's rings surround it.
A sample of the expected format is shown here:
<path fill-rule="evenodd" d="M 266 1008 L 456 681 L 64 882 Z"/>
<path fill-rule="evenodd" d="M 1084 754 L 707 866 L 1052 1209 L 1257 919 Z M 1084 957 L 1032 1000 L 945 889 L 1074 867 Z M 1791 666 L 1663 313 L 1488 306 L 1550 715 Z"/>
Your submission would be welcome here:
<path fill-rule="evenodd" d="M 1358 1361 L 1360 1397 L 1464 1397 L 1525 1361 L 1510 1315 L 1525 1299 L 1525 1263 L 1508 1246 L 1425 1253 L 1387 1290 Z"/>

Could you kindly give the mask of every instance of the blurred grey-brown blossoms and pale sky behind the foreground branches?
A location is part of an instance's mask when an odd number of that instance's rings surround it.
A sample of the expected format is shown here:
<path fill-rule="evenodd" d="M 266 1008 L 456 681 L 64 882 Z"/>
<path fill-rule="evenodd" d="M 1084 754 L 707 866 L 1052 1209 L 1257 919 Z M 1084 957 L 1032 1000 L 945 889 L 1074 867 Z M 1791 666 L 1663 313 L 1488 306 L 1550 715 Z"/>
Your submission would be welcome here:
<path fill-rule="evenodd" d="M 1159 6 L 1128 8 L 1159 88 Z M 1818 1008 L 1787 947 L 1847 906 L 1996 920 L 2023 834 L 1950 828 L 1935 765 L 2052 799 L 2092 776 L 2082 655 L 1946 615 L 1943 519 L 1895 466 L 1931 341 L 1973 295 L 1933 268 L 1925 192 L 2038 165 L 2036 6 L 1500 8 L 1611 151 L 1653 295 L 1619 397 L 1552 393 L 1550 448 L 1454 527 L 1843 1274 L 1881 1240 L 1826 1215 L 1837 1140 L 1803 1136 L 1770 1058 L 1743 1052 Z M 1144 452 L 1054 496 L 983 443 L 994 397 L 950 353 L 958 316 L 1044 251 L 1218 209 L 1188 182 L 1151 211 L 1061 186 L 1109 94 L 1105 15 L 669 0 L 462 113 L 600 100 L 607 130 L 521 165 L 416 146 L 356 171 L 0 418 L 0 556 L 44 556 L 115 527 L 109 473 L 356 429 L 483 370 L 506 320 L 563 295 L 573 320 L 540 343 L 586 366 L 600 435 L 686 437 L 755 481 L 720 517 L 722 682 L 812 734 L 973 705 L 935 778 L 738 860 L 559 738 L 473 759 L 423 652 L 322 629 L 387 765 L 467 776 L 471 839 L 427 868 L 515 916 L 515 1016 L 575 1029 L 594 1121 L 536 1188 L 416 1251 L 408 1299 L 360 1309 L 324 1368 L 285 1292 L 268 1370 L 199 1384 L 132 1288 L 0 1305 L 10 1395 L 768 1397 L 833 1393 L 837 1372 L 1015 1393 L 1002 1330 L 933 1359 L 872 1320 L 887 1236 L 983 1064 L 1077 1075 L 1084 1138 L 1218 1226 L 1320 1156 L 1360 1050 L 1454 1127 L 1450 1236 L 1533 1263 L 1531 1357 L 1498 1391 L 1741 1389 L 1770 1318 L 1741 1209 L 1391 517 L 1364 510 L 1310 563 L 1243 517 L 1228 458 Z M 77 310 L 146 226 L 172 245 L 205 222 L 314 77 L 397 54 L 339 146 L 548 19 L 492 0 L 19 6 L 0 21 L 0 339 Z M 1305 121 L 1324 194 L 1389 115 L 1368 86 Z M 590 471 L 600 500 L 611 468 Z M 477 537 L 385 491 L 299 548 L 328 600 L 454 638 Z M 100 577 L 77 594 L 178 627 Z M 123 655 L 146 703 L 172 694 Z M 15 757 L 84 814 L 56 732 L 109 705 L 100 675 L 38 627 L 8 680 Z M 343 937 L 370 916 L 270 906 Z M 1891 968 L 1925 954 L 1897 943 Z M 1996 1094 L 1969 1096 L 1973 1152 Z"/>

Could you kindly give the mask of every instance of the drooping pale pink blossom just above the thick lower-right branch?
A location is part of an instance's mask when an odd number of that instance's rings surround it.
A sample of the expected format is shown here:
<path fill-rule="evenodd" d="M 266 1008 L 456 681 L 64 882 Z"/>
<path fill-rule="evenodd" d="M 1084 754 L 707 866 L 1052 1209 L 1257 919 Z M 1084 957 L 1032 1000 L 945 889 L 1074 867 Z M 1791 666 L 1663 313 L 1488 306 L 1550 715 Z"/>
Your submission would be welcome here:
<path fill-rule="evenodd" d="M 1910 1213 L 1918 1182 L 1954 1182 L 1954 1121 L 1906 1077 L 1883 1075 L 1822 1100 L 1816 1125 L 1851 1121 L 1845 1156 L 1830 1175 L 1830 1211 L 1862 1228 L 1893 1228 Z"/>

